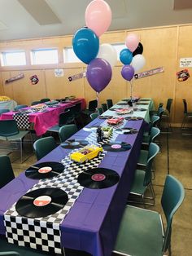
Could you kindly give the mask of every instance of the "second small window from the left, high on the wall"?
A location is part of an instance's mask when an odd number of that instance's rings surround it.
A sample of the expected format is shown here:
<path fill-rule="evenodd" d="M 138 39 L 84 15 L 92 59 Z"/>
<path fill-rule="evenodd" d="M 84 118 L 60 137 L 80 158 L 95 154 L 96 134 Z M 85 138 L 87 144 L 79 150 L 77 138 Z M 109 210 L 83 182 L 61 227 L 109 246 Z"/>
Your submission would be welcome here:
<path fill-rule="evenodd" d="M 32 64 L 58 64 L 56 49 L 38 49 L 31 51 Z"/>

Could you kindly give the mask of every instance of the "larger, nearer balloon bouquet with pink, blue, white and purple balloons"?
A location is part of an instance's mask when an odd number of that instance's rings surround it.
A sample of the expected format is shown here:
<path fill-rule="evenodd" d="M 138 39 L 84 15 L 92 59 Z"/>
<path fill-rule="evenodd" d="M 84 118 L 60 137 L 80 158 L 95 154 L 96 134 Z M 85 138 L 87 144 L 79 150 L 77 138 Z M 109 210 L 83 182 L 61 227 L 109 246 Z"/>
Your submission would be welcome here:
<path fill-rule="evenodd" d="M 85 64 L 88 64 L 86 77 L 89 85 L 101 92 L 111 81 L 116 64 L 116 50 L 107 43 L 99 46 L 99 38 L 111 24 L 111 8 L 104 0 L 94 0 L 85 10 L 86 27 L 76 31 L 72 38 L 73 51 Z"/>

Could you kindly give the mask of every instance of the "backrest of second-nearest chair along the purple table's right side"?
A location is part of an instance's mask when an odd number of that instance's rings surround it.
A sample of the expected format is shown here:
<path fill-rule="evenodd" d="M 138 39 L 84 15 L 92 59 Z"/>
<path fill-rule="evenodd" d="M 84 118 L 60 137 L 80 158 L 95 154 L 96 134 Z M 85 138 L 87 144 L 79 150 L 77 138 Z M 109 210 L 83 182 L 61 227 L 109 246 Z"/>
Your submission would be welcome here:
<path fill-rule="evenodd" d="M 154 158 L 155 158 L 155 156 L 157 155 L 158 152 L 159 152 L 159 146 L 157 144 L 151 142 L 150 146 L 149 146 L 148 157 L 147 157 L 145 178 L 144 178 L 144 181 L 143 181 L 144 186 L 148 186 L 151 183 L 152 163 L 153 163 Z"/>

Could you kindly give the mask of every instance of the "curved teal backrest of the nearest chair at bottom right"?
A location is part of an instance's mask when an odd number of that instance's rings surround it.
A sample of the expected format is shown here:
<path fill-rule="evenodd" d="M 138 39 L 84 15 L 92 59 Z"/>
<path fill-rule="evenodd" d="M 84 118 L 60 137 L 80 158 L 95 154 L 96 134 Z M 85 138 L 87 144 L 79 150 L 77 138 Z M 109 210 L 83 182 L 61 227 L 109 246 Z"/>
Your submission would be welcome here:
<path fill-rule="evenodd" d="M 164 191 L 161 197 L 161 205 L 167 220 L 167 227 L 164 234 L 163 252 L 168 249 L 171 243 L 172 218 L 180 207 L 185 197 L 185 190 L 180 181 L 172 175 L 167 175 L 164 183 Z"/>

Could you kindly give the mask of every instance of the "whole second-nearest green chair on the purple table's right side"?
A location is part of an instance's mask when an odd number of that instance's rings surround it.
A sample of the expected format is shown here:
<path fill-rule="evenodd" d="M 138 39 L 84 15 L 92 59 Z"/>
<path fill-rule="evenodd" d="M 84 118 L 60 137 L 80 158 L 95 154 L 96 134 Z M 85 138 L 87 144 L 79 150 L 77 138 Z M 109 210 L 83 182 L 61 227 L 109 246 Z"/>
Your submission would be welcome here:
<path fill-rule="evenodd" d="M 133 184 L 130 190 L 128 202 L 141 203 L 138 201 L 138 196 L 142 197 L 142 203 L 145 205 L 155 205 L 155 192 L 152 185 L 152 163 L 155 156 L 159 152 L 159 146 L 155 143 L 150 143 L 147 164 L 145 170 L 135 170 Z M 151 196 L 145 196 L 146 189 L 150 188 Z M 146 201 L 152 200 L 153 202 Z"/>

